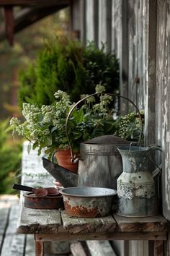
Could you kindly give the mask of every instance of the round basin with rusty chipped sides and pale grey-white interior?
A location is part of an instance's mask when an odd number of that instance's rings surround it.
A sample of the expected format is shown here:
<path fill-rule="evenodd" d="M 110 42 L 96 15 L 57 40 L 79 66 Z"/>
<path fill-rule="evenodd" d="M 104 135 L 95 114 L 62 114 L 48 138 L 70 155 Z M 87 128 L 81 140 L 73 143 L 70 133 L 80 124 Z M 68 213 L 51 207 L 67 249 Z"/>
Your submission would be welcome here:
<path fill-rule="evenodd" d="M 111 213 L 115 189 L 99 187 L 72 187 L 61 190 L 66 213 L 69 216 L 95 218 Z"/>

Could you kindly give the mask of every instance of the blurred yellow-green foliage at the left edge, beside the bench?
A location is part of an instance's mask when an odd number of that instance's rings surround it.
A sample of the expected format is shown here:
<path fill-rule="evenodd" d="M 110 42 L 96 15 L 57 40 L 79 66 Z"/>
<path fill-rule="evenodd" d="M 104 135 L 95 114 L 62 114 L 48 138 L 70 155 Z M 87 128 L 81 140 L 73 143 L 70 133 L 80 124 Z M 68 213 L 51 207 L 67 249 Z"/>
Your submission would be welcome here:
<path fill-rule="evenodd" d="M 14 176 L 21 165 L 22 146 L 11 141 L 11 132 L 7 129 L 9 120 L 0 122 L 0 194 L 13 192 Z"/>

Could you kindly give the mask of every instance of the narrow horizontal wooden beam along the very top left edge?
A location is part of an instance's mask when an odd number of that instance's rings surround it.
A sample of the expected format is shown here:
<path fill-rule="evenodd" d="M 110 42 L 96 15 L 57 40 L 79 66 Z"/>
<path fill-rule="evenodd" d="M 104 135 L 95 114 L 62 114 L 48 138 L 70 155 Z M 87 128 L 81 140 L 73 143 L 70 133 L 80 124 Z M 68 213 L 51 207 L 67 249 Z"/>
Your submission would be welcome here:
<path fill-rule="evenodd" d="M 0 0 L 0 6 L 57 6 L 58 4 L 69 4 L 69 0 Z"/>

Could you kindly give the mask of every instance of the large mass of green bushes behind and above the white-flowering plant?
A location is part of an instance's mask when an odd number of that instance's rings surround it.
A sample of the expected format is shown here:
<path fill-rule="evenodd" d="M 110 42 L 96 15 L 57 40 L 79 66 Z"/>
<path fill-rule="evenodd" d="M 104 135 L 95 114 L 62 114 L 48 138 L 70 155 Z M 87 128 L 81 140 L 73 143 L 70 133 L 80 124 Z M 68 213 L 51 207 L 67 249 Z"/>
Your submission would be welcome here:
<path fill-rule="evenodd" d="M 57 90 L 78 101 L 82 93 L 94 93 L 97 84 L 114 93 L 119 86 L 119 64 L 104 47 L 97 49 L 93 43 L 84 47 L 76 40 L 56 38 L 45 43 L 32 68 L 22 70 L 19 80 L 19 106 L 23 102 L 49 105 Z M 32 92 L 27 90 L 29 85 Z"/>

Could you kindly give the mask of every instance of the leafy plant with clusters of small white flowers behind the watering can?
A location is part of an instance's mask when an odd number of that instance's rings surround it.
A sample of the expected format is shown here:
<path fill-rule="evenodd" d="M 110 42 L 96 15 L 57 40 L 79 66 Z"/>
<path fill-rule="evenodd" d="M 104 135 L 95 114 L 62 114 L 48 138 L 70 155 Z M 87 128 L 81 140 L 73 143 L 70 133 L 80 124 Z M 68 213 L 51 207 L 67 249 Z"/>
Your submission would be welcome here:
<path fill-rule="evenodd" d="M 68 137 L 73 153 L 79 151 L 79 143 L 101 135 L 116 135 L 119 124 L 113 119 L 113 98 L 104 93 L 105 88 L 97 85 L 97 97 L 86 98 L 83 105 L 76 106 L 68 120 Z M 69 148 L 66 136 L 66 118 L 74 103 L 66 92 L 58 90 L 55 102 L 49 106 L 23 103 L 24 121 L 15 117 L 10 120 L 13 132 L 30 141 L 38 154 L 45 149 L 49 158 L 55 150 Z M 85 98 L 87 95 L 81 95 Z M 123 124 L 122 124 L 123 125 Z M 30 147 L 29 147 L 30 148 Z"/>

